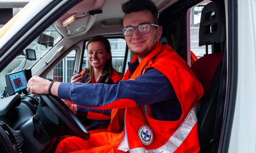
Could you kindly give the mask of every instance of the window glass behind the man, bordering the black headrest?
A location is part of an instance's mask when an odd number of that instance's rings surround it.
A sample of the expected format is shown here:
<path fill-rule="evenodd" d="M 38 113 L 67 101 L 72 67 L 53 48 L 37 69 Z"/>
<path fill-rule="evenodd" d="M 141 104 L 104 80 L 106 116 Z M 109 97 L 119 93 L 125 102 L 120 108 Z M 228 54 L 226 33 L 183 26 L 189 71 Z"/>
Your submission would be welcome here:
<path fill-rule="evenodd" d="M 197 58 L 205 55 L 205 45 L 199 47 L 199 25 L 201 12 L 204 6 L 194 7 L 190 12 L 190 50 Z M 211 54 L 211 45 L 208 45 L 208 54 Z"/>

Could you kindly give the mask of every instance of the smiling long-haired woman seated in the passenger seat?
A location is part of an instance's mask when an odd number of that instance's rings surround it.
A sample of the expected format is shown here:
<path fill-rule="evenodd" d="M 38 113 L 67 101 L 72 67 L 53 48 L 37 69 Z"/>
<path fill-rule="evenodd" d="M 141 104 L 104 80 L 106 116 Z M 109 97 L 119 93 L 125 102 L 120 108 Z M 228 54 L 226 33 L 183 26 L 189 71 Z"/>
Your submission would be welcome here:
<path fill-rule="evenodd" d="M 102 36 L 89 39 L 86 46 L 88 50 L 89 66 L 84 71 L 74 75 L 71 83 L 118 83 L 122 76 L 112 66 L 111 47 L 109 41 Z M 76 70 L 74 70 L 76 72 Z M 77 106 L 65 102 L 78 117 L 85 118 L 88 130 L 101 129 L 109 125 L 111 109 L 97 110 Z"/>

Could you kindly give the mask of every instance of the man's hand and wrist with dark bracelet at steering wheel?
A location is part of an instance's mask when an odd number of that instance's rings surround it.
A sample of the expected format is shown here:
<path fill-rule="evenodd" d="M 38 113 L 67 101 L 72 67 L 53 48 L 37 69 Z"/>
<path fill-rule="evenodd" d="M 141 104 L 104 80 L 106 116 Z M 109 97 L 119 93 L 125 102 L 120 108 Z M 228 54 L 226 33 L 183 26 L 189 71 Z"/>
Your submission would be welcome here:
<path fill-rule="evenodd" d="M 31 79 L 29 79 L 29 82 L 27 84 L 27 90 L 29 90 L 32 94 L 49 94 L 48 88 L 51 82 L 38 77 L 33 76 Z M 58 87 L 60 85 L 60 82 L 54 82 L 51 87 L 51 94 L 58 96 Z"/>

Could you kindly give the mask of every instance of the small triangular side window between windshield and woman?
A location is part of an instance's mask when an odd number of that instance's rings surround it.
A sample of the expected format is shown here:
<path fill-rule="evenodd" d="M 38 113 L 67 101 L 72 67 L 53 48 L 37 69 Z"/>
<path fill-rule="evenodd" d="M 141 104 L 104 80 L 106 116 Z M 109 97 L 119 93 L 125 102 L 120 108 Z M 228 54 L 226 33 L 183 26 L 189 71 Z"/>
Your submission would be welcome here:
<path fill-rule="evenodd" d="M 76 50 L 72 50 L 47 74 L 46 78 L 59 82 L 70 82 L 74 70 L 75 58 Z"/>

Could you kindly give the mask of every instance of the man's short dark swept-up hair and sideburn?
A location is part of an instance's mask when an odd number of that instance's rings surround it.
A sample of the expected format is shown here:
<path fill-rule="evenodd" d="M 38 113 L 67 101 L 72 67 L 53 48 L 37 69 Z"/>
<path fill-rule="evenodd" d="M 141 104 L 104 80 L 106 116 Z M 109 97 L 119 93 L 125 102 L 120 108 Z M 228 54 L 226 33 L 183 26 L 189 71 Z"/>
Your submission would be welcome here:
<path fill-rule="evenodd" d="M 158 25 L 158 10 L 156 3 L 151 0 L 129 0 L 122 3 L 122 11 L 125 14 L 139 12 L 139 11 L 150 11 L 153 15 L 155 24 Z"/>

